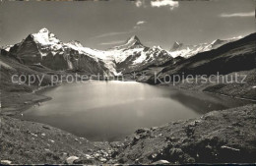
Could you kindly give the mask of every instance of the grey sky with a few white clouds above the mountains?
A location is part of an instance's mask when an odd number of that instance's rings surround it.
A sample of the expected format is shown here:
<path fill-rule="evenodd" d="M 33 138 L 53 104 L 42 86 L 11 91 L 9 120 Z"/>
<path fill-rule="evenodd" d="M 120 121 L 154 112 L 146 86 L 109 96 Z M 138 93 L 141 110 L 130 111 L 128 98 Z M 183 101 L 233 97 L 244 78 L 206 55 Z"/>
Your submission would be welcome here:
<path fill-rule="evenodd" d="M 64 41 L 107 49 L 137 35 L 146 46 L 185 44 L 256 31 L 255 0 L 109 0 L 12 2 L 0 6 L 0 45 L 20 42 L 40 28 Z"/>

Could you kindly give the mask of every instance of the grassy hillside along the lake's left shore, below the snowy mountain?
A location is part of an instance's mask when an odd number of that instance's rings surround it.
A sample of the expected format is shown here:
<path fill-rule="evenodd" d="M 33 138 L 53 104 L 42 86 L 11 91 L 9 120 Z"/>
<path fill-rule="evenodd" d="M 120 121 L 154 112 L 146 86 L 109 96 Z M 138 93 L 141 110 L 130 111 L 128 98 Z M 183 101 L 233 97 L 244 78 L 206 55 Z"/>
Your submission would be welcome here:
<path fill-rule="evenodd" d="M 0 56 L 1 63 L 1 114 L 16 114 L 38 101 L 44 101 L 49 97 L 32 93 L 38 89 L 37 83 L 32 85 L 12 83 L 13 75 L 45 75 L 42 85 L 50 83 L 48 72 L 52 72 L 46 68 L 36 66 L 25 66 L 15 59 Z M 27 103 L 27 104 L 25 104 Z"/>

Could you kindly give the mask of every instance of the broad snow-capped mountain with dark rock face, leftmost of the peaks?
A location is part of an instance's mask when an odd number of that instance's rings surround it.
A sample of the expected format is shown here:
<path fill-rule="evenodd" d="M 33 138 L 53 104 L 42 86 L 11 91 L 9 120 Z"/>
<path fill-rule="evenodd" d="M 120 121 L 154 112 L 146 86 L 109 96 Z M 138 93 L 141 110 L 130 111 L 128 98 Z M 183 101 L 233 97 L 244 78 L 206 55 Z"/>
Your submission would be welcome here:
<path fill-rule="evenodd" d="M 75 45 L 74 45 L 75 44 Z M 47 28 L 29 34 L 26 39 L 10 48 L 8 56 L 19 59 L 22 63 L 41 64 L 52 70 L 82 70 L 90 74 L 112 73 L 104 63 L 83 52 L 78 42 L 64 43 Z"/>

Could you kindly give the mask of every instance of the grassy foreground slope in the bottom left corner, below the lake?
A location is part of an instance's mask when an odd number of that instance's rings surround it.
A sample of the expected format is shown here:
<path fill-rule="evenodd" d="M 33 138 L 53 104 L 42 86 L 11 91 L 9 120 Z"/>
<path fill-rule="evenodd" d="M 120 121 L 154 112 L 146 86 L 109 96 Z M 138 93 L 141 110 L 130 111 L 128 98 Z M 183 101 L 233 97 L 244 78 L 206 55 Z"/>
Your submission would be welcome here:
<path fill-rule="evenodd" d="M 86 158 L 99 150 L 108 152 L 108 143 L 90 142 L 48 125 L 1 117 L 1 160 L 13 164 L 64 164 L 68 156 Z M 66 154 L 65 154 L 66 153 Z M 98 157 L 99 158 L 99 157 Z M 89 163 L 99 163 L 97 158 Z"/>

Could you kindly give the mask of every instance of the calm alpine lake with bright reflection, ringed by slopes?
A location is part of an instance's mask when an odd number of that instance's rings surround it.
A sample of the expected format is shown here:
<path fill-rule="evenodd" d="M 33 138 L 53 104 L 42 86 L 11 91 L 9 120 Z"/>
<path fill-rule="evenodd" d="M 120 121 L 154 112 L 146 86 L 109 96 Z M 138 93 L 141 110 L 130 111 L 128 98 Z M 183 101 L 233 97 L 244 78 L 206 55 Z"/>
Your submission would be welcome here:
<path fill-rule="evenodd" d="M 62 84 L 44 95 L 52 100 L 33 106 L 23 119 L 49 124 L 90 140 L 119 140 L 143 127 L 196 118 L 248 102 L 203 92 L 134 82 Z"/>

